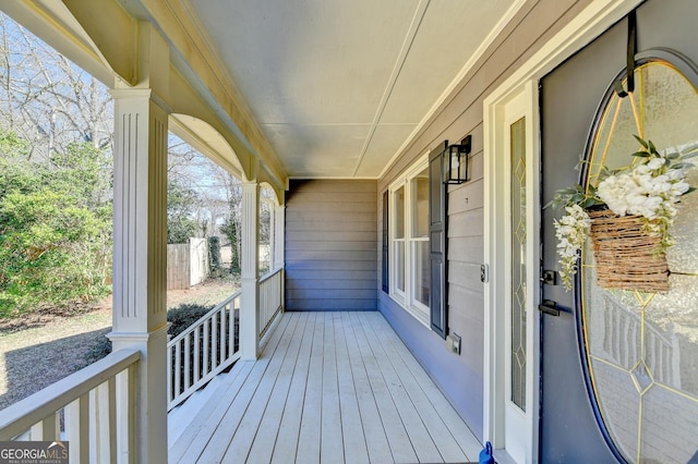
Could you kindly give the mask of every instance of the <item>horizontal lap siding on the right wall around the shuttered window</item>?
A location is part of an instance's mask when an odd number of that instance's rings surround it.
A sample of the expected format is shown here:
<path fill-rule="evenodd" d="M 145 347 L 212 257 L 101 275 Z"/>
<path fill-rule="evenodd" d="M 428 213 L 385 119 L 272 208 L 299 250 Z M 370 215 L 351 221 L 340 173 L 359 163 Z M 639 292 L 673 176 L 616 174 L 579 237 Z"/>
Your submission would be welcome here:
<path fill-rule="evenodd" d="M 488 157 L 495 156 L 483 152 L 483 102 L 589 3 L 590 0 L 527 2 L 378 180 L 376 204 L 382 207 L 383 192 L 420 156 L 444 139 L 460 141 L 472 135 L 470 181 L 448 187 L 448 332 L 461 337 L 460 356 L 449 353 L 443 340 L 389 296 L 382 294 L 380 310 L 479 437 L 483 436 L 484 388 L 485 308 L 480 282 L 485 219 L 483 166 Z M 381 246 L 378 243 L 378 257 Z"/>

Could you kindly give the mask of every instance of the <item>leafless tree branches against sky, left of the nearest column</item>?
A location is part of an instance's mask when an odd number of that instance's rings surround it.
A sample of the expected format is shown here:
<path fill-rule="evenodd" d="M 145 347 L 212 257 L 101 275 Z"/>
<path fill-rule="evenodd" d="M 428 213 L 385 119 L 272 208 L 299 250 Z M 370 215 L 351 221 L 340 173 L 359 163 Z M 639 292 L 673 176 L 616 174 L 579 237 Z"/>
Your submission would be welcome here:
<path fill-rule="evenodd" d="M 48 161 L 69 144 L 110 148 L 109 89 L 0 13 L 0 118 L 31 143 L 29 157 Z"/>

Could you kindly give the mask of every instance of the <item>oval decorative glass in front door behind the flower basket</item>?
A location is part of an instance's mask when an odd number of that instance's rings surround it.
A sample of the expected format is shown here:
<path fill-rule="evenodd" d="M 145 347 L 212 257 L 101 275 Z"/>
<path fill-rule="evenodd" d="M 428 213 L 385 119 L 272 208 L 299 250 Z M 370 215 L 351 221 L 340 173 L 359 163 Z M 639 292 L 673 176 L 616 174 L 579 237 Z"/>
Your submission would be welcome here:
<path fill-rule="evenodd" d="M 587 185 L 601 166 L 627 166 L 637 134 L 660 150 L 698 144 L 698 94 L 665 61 L 635 72 L 636 90 L 602 109 L 588 155 Z M 694 159 L 695 160 L 695 159 Z M 698 186 L 698 169 L 688 171 Z M 611 439 L 630 462 L 698 460 L 698 193 L 678 204 L 667 251 L 665 293 L 595 284 L 590 245 L 582 255 L 582 329 L 592 391 Z"/>

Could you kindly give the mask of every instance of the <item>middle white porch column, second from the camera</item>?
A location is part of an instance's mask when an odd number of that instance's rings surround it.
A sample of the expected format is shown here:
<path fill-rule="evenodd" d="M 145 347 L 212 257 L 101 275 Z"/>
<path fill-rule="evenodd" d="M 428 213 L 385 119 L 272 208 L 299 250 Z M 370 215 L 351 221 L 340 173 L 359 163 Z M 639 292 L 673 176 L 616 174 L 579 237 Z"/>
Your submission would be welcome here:
<path fill-rule="evenodd" d="M 240 350 L 242 359 L 260 355 L 260 185 L 242 183 L 242 256 L 240 286 Z"/>

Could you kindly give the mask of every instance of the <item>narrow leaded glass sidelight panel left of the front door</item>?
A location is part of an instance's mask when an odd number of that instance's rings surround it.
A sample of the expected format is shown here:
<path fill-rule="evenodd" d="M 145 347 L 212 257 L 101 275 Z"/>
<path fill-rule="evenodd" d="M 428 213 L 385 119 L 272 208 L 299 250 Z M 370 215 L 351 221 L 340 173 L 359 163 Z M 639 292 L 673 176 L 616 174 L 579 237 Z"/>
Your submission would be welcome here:
<path fill-rule="evenodd" d="M 512 402 L 526 411 L 526 119 L 509 127 L 512 154 Z"/>

